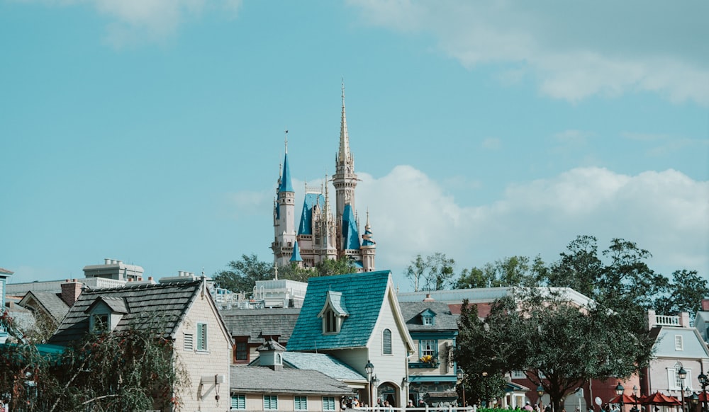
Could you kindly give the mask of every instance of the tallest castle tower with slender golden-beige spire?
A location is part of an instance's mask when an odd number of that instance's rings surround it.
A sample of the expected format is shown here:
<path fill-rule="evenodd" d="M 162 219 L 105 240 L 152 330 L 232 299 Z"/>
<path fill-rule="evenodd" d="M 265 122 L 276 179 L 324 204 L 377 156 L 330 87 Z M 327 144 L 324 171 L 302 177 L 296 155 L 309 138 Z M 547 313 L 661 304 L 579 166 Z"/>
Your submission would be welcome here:
<path fill-rule="evenodd" d="M 335 216 L 337 217 L 337 249 L 347 249 L 346 232 L 347 222 L 350 221 L 350 212 L 354 210 L 354 188 L 357 187 L 357 175 L 354 174 L 354 156 L 350 152 L 350 135 L 347 132 L 347 115 L 345 115 L 345 84 L 342 83 L 342 118 L 340 119 L 340 150 L 335 156 Z M 350 210 L 346 210 L 347 205 Z M 351 245 L 350 245 L 351 246 Z"/>

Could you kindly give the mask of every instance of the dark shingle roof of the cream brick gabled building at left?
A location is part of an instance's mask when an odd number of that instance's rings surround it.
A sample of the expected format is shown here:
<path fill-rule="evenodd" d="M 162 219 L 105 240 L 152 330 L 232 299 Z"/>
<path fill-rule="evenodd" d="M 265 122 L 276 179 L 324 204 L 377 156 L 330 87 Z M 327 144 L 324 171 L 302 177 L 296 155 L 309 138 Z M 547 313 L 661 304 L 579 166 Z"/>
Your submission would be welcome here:
<path fill-rule="evenodd" d="M 79 299 L 74 303 L 62 324 L 50 338 L 49 343 L 67 345 L 72 341 L 81 339 L 89 331 L 89 309 L 97 299 L 104 302 L 119 299 L 125 302 L 127 311 L 121 317 L 114 331 L 121 331 L 135 326 L 150 327 L 146 323 L 146 316 L 150 320 L 160 321 L 158 330 L 166 336 L 173 336 L 182 324 L 182 319 L 187 313 L 201 288 L 201 280 L 188 282 L 169 282 L 152 285 L 143 283 L 127 285 L 110 289 L 84 290 Z M 116 303 L 117 304 L 117 303 Z M 152 324 L 155 325 L 155 324 Z"/>

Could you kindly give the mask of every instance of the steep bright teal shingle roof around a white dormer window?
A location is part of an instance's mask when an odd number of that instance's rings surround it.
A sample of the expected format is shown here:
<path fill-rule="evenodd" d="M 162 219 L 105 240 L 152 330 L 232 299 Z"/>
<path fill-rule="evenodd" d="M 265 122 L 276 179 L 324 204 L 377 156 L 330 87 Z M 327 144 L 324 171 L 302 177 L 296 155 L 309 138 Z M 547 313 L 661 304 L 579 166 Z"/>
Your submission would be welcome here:
<path fill-rule="evenodd" d="M 389 270 L 379 270 L 308 279 L 301 314 L 286 348 L 314 351 L 366 347 L 384 303 L 389 276 Z M 318 314 L 330 291 L 342 294 L 340 302 L 346 305 L 349 316 L 344 319 L 340 333 L 323 335 L 323 321 Z"/>

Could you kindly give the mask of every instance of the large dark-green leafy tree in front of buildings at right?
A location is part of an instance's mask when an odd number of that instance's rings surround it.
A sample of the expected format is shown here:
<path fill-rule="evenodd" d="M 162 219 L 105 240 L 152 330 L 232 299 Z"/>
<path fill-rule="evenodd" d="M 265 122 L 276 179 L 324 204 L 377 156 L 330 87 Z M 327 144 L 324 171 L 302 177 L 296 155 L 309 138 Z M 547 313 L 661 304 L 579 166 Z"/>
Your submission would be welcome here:
<path fill-rule="evenodd" d="M 629 330 L 625 311 L 579 307 L 548 289 L 522 288 L 499 299 L 484 320 L 473 319 L 477 312 L 467 306 L 459 319 L 459 364 L 491 374 L 524 371 L 549 394 L 555 411 L 579 384 L 629 377 L 652 355 L 649 332 Z"/>

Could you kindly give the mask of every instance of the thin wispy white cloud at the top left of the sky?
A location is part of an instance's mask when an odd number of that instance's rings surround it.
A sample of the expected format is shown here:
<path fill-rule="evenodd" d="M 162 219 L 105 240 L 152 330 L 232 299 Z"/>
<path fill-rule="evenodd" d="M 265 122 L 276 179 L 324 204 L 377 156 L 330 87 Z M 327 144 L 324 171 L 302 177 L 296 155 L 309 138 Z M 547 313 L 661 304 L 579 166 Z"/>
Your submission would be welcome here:
<path fill-rule="evenodd" d="M 59 6 L 87 4 L 108 16 L 104 40 L 113 47 L 162 42 L 174 35 L 179 25 L 216 8 L 228 17 L 236 15 L 242 0 L 45 0 Z"/>

